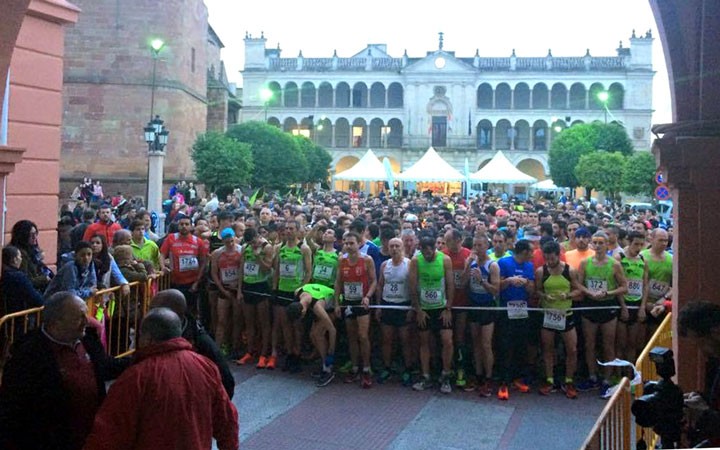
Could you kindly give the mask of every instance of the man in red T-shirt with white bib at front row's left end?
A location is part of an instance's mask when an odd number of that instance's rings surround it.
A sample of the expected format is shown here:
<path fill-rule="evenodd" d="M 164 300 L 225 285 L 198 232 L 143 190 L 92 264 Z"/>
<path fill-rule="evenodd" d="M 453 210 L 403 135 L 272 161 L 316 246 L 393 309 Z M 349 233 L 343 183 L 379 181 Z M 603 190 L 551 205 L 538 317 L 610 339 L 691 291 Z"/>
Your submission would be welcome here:
<path fill-rule="evenodd" d="M 178 232 L 169 234 L 160 248 L 163 258 L 170 258 L 170 285 L 183 293 L 193 314 L 197 313 L 198 285 L 205 272 L 208 252 L 208 243 L 192 234 L 189 217 L 178 221 Z"/>

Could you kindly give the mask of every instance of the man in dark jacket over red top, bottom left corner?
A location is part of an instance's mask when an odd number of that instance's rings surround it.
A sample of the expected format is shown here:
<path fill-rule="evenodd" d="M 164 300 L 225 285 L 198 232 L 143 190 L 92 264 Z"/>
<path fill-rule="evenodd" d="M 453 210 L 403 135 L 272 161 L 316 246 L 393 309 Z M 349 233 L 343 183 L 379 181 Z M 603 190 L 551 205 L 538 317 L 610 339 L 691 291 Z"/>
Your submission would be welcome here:
<path fill-rule="evenodd" d="M 0 385 L 0 448 L 81 449 L 105 397 L 105 382 L 129 365 L 105 351 L 88 328 L 85 302 L 58 292 L 43 325 L 17 342 Z"/>

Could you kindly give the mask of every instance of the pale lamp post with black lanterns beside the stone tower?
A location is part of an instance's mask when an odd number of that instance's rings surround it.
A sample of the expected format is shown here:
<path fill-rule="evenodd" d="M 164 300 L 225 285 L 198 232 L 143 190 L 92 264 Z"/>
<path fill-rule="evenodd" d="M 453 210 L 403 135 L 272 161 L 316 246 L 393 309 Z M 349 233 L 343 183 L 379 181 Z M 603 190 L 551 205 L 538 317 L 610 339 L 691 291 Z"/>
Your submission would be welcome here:
<path fill-rule="evenodd" d="M 165 146 L 170 131 L 165 128 L 165 122 L 160 116 L 155 116 L 144 128 L 145 142 L 148 144 L 148 191 L 147 209 L 155 211 L 160 218 L 157 230 L 164 231 L 164 217 L 162 213 L 163 197 L 163 163 L 165 161 Z"/>

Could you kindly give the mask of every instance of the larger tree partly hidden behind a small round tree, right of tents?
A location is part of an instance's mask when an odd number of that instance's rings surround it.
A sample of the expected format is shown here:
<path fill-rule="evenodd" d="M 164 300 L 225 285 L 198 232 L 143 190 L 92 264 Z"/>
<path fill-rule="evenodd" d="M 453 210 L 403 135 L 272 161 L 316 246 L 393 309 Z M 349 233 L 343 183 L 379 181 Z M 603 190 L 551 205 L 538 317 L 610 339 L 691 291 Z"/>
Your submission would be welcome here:
<path fill-rule="evenodd" d="M 550 176 L 558 186 L 580 186 L 575 167 L 580 157 L 592 151 L 620 152 L 629 155 L 632 142 L 625 129 L 617 124 L 590 123 L 573 125 L 562 131 L 550 145 Z"/>

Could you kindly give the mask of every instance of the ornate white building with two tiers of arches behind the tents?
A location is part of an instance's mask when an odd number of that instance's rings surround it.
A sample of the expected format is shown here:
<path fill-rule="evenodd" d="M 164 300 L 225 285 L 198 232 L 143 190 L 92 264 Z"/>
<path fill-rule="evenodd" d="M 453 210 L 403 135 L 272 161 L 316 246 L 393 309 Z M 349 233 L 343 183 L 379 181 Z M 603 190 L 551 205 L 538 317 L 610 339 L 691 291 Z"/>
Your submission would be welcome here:
<path fill-rule="evenodd" d="M 633 31 L 629 41 L 616 56 L 459 57 L 440 33 L 424 57 L 370 44 L 349 58 L 281 58 L 246 34 L 241 121 L 309 136 L 333 155 L 331 173 L 368 148 L 402 171 L 433 146 L 460 171 L 465 158 L 475 171 L 503 150 L 545 179 L 553 137 L 577 123 L 618 122 L 635 148 L 650 148 L 653 38 Z"/>

